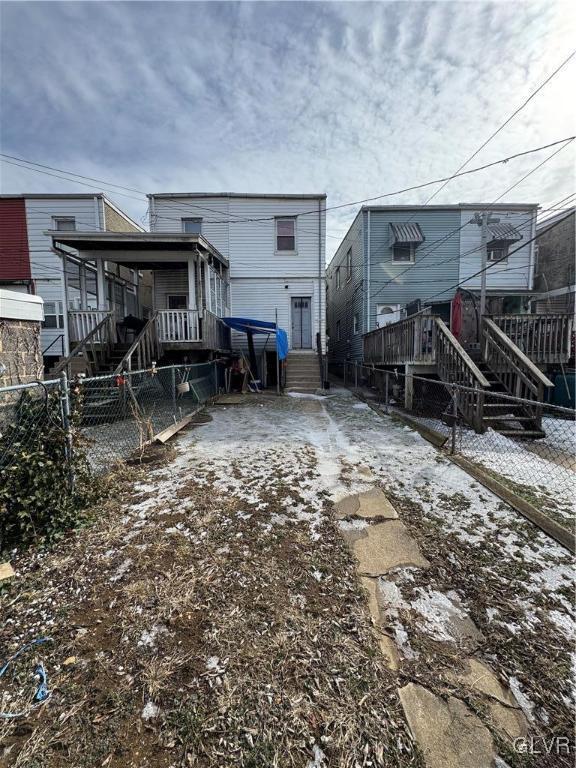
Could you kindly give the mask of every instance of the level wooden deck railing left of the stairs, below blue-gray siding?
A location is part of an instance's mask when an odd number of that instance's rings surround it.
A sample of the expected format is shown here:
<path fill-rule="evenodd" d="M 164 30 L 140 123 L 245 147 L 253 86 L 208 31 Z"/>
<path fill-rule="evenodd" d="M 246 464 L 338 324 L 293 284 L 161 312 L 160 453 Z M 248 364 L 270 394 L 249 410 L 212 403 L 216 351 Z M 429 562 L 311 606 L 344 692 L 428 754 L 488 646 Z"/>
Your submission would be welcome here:
<path fill-rule="evenodd" d="M 364 362 L 377 365 L 433 363 L 435 317 L 419 313 L 364 336 Z"/>

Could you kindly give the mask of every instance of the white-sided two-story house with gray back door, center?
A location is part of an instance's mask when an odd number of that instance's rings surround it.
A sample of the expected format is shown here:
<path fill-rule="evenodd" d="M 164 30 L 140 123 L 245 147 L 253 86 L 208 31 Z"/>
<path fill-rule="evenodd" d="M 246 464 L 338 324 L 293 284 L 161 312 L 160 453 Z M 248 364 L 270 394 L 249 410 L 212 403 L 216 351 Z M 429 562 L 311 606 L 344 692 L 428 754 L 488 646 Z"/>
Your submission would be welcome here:
<path fill-rule="evenodd" d="M 325 336 L 325 195 L 149 195 L 153 232 L 200 232 L 230 262 L 230 315 L 274 322 L 291 349 Z M 265 337 L 256 337 L 260 347 Z M 245 337 L 234 334 L 233 346 Z"/>

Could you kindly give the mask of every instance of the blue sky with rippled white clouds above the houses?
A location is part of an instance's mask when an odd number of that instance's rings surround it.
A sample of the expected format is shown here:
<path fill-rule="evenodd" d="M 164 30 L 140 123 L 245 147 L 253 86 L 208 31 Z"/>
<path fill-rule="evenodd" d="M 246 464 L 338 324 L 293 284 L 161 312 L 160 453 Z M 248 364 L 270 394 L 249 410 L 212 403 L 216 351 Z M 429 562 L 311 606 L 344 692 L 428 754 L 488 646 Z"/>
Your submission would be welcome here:
<path fill-rule="evenodd" d="M 576 47 L 563 2 L 3 2 L 1 151 L 144 192 L 327 192 L 449 175 Z M 470 167 L 574 134 L 576 57 Z M 574 144 L 503 199 L 574 191 Z M 501 195 L 551 150 L 452 181 Z M 2 192 L 89 191 L 1 164 Z M 136 219 L 145 199 L 96 184 Z M 422 203 L 432 189 L 386 203 Z M 133 199 L 137 198 L 137 199 Z M 328 219 L 328 253 L 357 207 Z"/>

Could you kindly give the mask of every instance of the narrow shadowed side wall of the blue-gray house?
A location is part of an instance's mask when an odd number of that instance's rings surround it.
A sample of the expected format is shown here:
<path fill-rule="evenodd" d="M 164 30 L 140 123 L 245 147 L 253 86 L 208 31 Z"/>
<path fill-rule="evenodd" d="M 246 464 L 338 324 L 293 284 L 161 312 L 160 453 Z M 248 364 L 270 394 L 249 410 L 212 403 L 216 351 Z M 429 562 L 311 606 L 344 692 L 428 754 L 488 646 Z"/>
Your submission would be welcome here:
<path fill-rule="evenodd" d="M 331 363 L 362 359 L 364 330 L 365 259 L 363 242 L 363 213 L 360 212 L 326 270 L 328 288 L 327 333 L 328 356 Z M 352 249 L 352 279 L 347 280 L 346 254 Z M 340 288 L 336 288 L 336 269 L 340 267 Z M 359 315 L 358 332 L 354 333 L 354 315 Z M 340 321 L 340 341 L 337 323 Z"/>

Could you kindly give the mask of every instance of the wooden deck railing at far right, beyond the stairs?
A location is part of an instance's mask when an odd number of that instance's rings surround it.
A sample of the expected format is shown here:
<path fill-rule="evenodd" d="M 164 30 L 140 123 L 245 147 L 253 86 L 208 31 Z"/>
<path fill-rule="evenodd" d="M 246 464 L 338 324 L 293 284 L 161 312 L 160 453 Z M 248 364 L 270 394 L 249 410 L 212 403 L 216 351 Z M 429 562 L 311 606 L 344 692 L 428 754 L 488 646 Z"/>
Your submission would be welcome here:
<path fill-rule="evenodd" d="M 572 315 L 495 315 L 491 320 L 533 363 L 568 362 Z"/>

